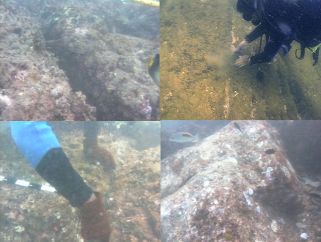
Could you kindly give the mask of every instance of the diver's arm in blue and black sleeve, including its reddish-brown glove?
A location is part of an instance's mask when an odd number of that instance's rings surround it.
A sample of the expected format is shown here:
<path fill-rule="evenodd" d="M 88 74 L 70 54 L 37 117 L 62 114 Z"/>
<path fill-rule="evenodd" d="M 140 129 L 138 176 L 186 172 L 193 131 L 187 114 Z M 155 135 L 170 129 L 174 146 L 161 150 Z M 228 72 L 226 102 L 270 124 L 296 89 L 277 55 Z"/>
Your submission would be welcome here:
<path fill-rule="evenodd" d="M 80 209 L 82 237 L 109 242 L 111 228 L 101 194 L 72 167 L 46 122 L 11 122 L 11 135 L 32 167 L 73 207 Z"/>

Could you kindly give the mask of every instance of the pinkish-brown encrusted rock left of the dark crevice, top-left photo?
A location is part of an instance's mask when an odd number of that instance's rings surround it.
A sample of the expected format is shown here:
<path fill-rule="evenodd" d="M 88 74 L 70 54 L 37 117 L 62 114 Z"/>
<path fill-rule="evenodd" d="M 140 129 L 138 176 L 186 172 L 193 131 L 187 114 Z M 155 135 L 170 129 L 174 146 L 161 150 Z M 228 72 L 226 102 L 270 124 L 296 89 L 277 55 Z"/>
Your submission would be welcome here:
<path fill-rule="evenodd" d="M 71 90 L 28 10 L 5 3 L 0 21 L 0 120 L 95 120 L 96 108 Z"/>

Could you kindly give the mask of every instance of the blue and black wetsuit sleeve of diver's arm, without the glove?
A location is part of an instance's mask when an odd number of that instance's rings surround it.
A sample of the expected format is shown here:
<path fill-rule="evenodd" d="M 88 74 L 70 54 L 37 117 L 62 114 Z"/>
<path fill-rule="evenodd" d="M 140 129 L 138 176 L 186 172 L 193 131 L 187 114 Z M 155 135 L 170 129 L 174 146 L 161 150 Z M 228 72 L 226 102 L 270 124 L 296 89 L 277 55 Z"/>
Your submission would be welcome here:
<path fill-rule="evenodd" d="M 11 122 L 11 135 L 32 167 L 72 206 L 80 207 L 93 190 L 74 170 L 46 122 Z"/>

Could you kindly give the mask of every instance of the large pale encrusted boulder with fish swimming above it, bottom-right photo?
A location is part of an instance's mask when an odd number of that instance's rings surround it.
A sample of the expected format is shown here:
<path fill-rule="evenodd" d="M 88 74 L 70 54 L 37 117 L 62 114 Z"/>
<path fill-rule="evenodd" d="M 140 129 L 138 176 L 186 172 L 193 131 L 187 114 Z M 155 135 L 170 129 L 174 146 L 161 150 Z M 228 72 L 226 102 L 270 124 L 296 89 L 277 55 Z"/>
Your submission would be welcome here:
<path fill-rule="evenodd" d="M 161 160 L 162 241 L 300 241 L 299 181 L 278 133 L 238 125 Z"/>

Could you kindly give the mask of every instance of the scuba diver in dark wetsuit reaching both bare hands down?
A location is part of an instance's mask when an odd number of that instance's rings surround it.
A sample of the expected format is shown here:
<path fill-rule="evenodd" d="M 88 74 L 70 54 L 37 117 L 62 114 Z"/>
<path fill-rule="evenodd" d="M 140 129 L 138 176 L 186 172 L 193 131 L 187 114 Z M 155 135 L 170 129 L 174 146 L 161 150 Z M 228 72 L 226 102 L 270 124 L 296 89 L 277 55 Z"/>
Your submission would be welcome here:
<path fill-rule="evenodd" d="M 235 53 L 240 53 L 249 43 L 265 34 L 263 52 L 254 56 L 241 55 L 235 64 L 238 67 L 271 62 L 280 49 L 287 54 L 293 40 L 301 45 L 300 60 L 305 48 L 312 52 L 314 64 L 318 63 L 321 47 L 321 0 L 238 0 L 237 11 L 243 19 L 257 26 L 239 44 Z"/>

